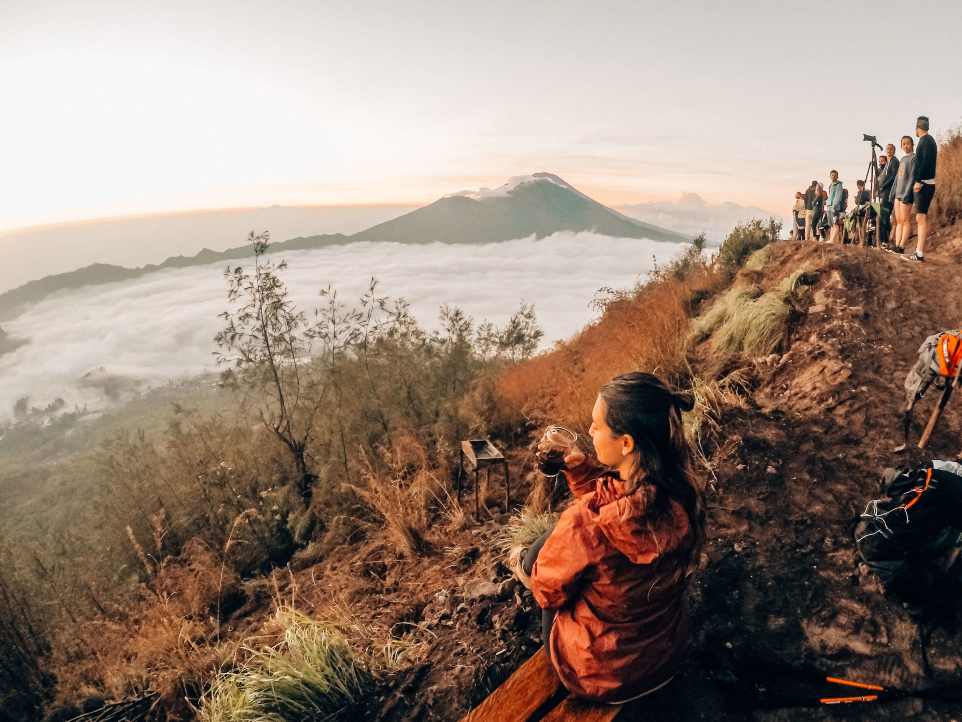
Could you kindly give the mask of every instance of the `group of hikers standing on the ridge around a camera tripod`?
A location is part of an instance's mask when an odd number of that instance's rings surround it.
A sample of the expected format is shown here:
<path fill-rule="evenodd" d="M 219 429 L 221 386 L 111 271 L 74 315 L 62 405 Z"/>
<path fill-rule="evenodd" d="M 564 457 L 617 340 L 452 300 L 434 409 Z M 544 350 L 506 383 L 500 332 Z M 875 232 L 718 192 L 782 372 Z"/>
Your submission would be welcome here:
<path fill-rule="evenodd" d="M 928 234 L 928 208 L 935 195 L 938 146 L 928 134 L 928 118 L 925 116 L 919 116 L 916 121 L 915 135 L 919 139 L 918 146 L 911 136 L 902 137 L 899 144 L 904 155 L 901 158 L 897 156 L 894 143 L 885 147 L 885 155 L 878 158 L 875 172 L 870 168 L 870 187 L 866 187 L 864 180 L 855 182 L 858 190 L 851 214 L 868 214 L 877 219 L 879 247 L 902 254 L 905 261 L 921 263 L 924 262 Z M 804 193 L 798 191 L 795 194 L 793 238 L 829 244 L 840 243 L 846 238 L 846 219 L 851 215 L 848 213 L 848 189 L 842 185 L 836 170 L 829 173 L 829 179 L 827 190 L 823 183 L 812 181 Z M 913 206 L 918 238 L 915 250 L 906 254 Z"/>

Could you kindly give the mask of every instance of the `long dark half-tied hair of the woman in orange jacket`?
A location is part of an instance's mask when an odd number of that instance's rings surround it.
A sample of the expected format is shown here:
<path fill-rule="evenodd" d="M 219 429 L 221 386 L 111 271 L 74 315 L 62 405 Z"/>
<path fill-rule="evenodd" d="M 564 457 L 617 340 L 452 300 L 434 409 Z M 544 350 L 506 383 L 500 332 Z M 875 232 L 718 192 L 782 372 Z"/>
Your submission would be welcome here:
<path fill-rule="evenodd" d="M 654 374 L 615 376 L 601 389 L 605 424 L 616 436 L 635 442 L 635 463 L 625 479 L 625 493 L 644 481 L 655 487 L 655 511 L 667 513 L 676 499 L 688 513 L 696 547 L 705 528 L 704 491 L 692 465 L 681 412 L 695 408 L 691 394 L 672 391 Z"/>

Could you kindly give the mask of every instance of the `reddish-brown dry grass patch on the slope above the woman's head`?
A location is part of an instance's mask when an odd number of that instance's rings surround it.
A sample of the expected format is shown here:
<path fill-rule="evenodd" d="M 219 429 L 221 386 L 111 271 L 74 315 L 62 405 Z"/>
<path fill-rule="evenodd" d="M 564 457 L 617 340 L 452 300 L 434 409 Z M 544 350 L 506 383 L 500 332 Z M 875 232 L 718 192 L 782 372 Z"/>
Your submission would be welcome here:
<path fill-rule="evenodd" d="M 645 371 L 685 383 L 691 300 L 718 282 L 717 269 L 701 267 L 684 281 L 660 280 L 616 298 L 567 344 L 508 369 L 499 392 L 536 424 L 585 434 L 598 390 L 613 376 Z"/>

